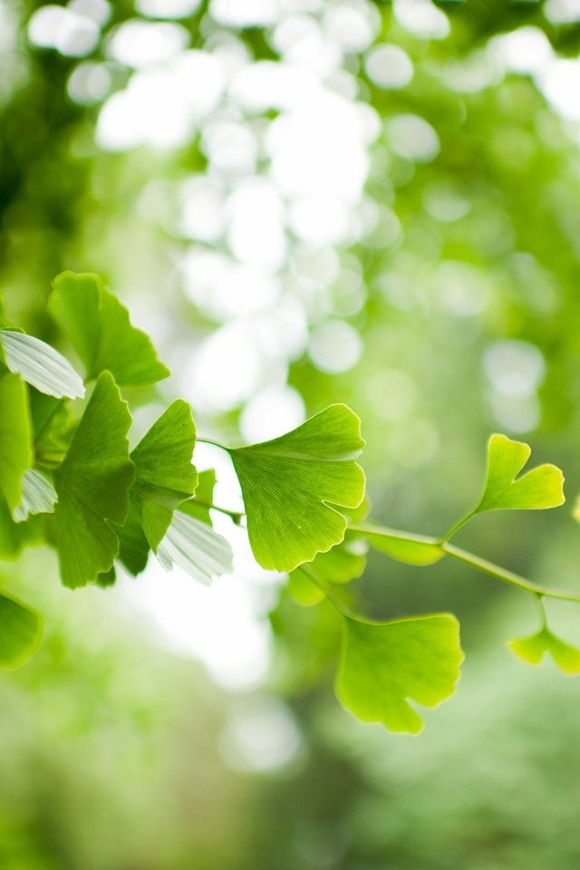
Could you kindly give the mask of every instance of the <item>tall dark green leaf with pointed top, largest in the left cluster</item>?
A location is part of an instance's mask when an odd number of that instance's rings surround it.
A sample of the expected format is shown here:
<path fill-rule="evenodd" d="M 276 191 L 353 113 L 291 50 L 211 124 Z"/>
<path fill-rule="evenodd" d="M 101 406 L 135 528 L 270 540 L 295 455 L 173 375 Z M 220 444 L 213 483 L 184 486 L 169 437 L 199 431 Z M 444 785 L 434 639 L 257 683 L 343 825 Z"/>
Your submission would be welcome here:
<path fill-rule="evenodd" d="M 135 470 L 127 431 L 131 414 L 110 372 L 102 372 L 62 465 L 54 472 L 54 528 L 63 584 L 75 588 L 110 571 Z"/>

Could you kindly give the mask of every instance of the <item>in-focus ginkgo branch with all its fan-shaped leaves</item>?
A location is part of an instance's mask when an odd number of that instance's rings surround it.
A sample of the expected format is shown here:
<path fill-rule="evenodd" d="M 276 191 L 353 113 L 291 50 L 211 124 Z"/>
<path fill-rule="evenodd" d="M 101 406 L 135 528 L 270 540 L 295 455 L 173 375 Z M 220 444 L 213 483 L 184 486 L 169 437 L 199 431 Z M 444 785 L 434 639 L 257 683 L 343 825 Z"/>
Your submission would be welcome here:
<path fill-rule="evenodd" d="M 528 593 L 580 597 L 531 584 L 449 543 L 482 511 L 562 503 L 564 478 L 555 466 L 517 477 L 530 455 L 527 444 L 491 437 L 478 507 L 445 536 L 365 525 L 365 478 L 356 462 L 364 447 L 360 420 L 346 405 L 333 404 L 279 438 L 227 449 L 244 498 L 245 514 L 237 514 L 214 504 L 215 471 L 198 476 L 192 464 L 196 427 L 186 401 L 173 401 L 130 454 L 131 409 L 120 387 L 152 383 L 168 371 L 101 279 L 60 275 L 48 310 L 95 383 L 79 414 L 70 400 L 84 386 L 70 363 L 34 336 L 0 334 L 5 558 L 45 542 L 56 547 L 63 585 L 107 587 L 116 582 L 115 560 L 139 575 L 152 551 L 166 570 L 178 565 L 208 585 L 233 570 L 231 546 L 214 531 L 212 509 L 237 524 L 245 516 L 257 562 L 289 572 L 288 591 L 299 604 L 327 599 L 342 620 L 336 691 L 344 707 L 409 733 L 422 726 L 411 702 L 433 707 L 455 690 L 463 658 L 459 625 L 449 614 L 372 622 L 353 613 L 343 602 L 343 594 L 352 600 L 353 593 L 341 587 L 363 574 L 368 545 L 408 565 L 452 557 Z M 14 664 L 34 647 L 38 625 L 35 614 L 14 602 L 0 610 L 2 630 L 4 623 L 3 661 Z M 511 645 L 527 662 L 550 652 L 566 672 L 575 672 L 580 657 L 547 629 Z"/>

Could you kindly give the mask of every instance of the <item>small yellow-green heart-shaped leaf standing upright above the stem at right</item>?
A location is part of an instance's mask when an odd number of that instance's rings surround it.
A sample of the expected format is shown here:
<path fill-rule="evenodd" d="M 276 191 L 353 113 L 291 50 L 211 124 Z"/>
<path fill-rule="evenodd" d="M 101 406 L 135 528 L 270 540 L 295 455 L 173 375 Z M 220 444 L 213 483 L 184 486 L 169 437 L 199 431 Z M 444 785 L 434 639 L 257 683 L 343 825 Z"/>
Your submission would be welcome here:
<path fill-rule="evenodd" d="M 538 465 L 517 477 L 531 454 L 522 441 L 492 435 L 488 441 L 488 475 L 474 513 L 485 510 L 540 510 L 565 502 L 564 475 L 555 465 Z"/>

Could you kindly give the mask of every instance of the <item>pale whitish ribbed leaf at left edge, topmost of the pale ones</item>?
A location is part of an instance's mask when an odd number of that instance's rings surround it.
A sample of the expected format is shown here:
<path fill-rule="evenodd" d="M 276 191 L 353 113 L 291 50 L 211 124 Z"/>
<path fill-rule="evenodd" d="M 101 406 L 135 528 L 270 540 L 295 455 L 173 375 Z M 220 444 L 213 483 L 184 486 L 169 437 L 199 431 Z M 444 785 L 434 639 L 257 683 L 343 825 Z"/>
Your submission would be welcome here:
<path fill-rule="evenodd" d="M 20 374 L 38 391 L 57 399 L 76 399 L 84 395 L 81 376 L 50 344 L 34 335 L 7 329 L 0 330 L 0 344 L 10 371 Z"/>

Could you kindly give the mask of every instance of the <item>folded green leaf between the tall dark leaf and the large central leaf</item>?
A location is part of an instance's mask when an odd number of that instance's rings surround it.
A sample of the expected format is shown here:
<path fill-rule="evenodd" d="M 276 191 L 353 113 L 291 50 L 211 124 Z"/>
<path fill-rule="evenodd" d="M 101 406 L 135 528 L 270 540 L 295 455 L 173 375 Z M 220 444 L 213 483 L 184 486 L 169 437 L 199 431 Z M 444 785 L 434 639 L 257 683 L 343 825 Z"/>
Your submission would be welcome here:
<path fill-rule="evenodd" d="M 153 552 L 157 552 L 173 511 L 198 485 L 191 464 L 196 428 L 187 401 L 174 401 L 131 452 L 135 483 L 131 501 Z"/>

